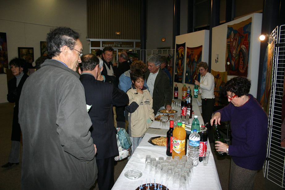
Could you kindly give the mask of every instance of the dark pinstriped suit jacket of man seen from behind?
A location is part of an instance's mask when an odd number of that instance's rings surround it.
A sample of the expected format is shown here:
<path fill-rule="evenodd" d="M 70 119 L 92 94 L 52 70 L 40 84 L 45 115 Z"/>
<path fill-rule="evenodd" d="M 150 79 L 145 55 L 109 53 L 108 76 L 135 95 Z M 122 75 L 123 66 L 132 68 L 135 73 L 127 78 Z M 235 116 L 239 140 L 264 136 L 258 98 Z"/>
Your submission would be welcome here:
<path fill-rule="evenodd" d="M 96 80 L 93 75 L 82 74 L 86 103 L 92 105 L 89 116 L 93 142 L 98 153 L 96 159 L 104 159 L 119 154 L 116 139 L 116 128 L 113 120 L 113 105 L 125 106 L 129 103 L 128 95 L 110 83 Z"/>

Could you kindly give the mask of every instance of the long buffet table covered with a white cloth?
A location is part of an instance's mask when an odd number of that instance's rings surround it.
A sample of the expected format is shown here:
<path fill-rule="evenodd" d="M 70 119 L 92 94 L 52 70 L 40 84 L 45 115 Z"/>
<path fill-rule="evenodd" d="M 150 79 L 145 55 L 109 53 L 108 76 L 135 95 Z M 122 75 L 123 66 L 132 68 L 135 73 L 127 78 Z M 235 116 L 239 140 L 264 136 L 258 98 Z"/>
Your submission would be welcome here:
<path fill-rule="evenodd" d="M 195 112 L 195 115 L 198 115 L 198 119 L 200 124 L 202 124 L 203 120 L 198 108 L 198 104 L 196 102 L 196 99 L 193 99 L 193 110 Z M 177 114 L 180 114 L 180 110 L 176 109 L 177 107 L 173 107 L 172 109 L 177 110 Z M 158 113 L 159 114 L 159 113 Z M 157 115 L 158 115 L 157 114 Z M 192 119 L 190 119 L 190 123 L 192 123 L 192 120 L 194 119 L 194 115 Z M 147 154 L 150 154 L 151 157 L 155 157 L 156 160 L 158 160 L 159 157 L 164 157 L 166 159 L 166 147 L 162 146 L 154 146 L 151 145 L 148 140 L 151 137 L 155 136 L 166 136 L 166 132 L 168 129 L 162 129 L 160 127 L 160 122 L 159 121 L 154 121 L 151 124 L 151 127 L 147 130 L 146 134 L 143 136 L 143 140 L 141 143 L 138 145 L 136 150 L 134 151 L 132 157 L 126 164 L 124 170 L 122 171 L 121 175 L 117 179 L 116 183 L 114 184 L 113 188 L 114 190 L 133 190 L 139 187 L 141 184 L 145 184 L 146 180 L 149 182 L 151 179 L 151 183 L 154 182 L 154 179 L 156 180 L 156 183 L 161 183 L 163 181 L 163 185 L 167 186 L 168 189 L 178 189 L 177 186 L 173 186 L 172 182 L 166 182 L 165 177 L 164 178 L 159 178 L 155 177 L 153 173 L 149 173 L 148 170 L 144 170 L 144 164 L 145 164 L 145 157 Z M 210 144 L 208 141 L 208 150 L 210 150 L 210 156 L 209 156 L 209 163 L 207 166 L 204 166 L 202 162 L 198 164 L 198 166 L 194 167 L 194 176 L 192 178 L 190 187 L 187 189 L 199 189 L 199 190 L 208 190 L 208 189 L 222 189 L 220 182 L 219 182 L 219 176 L 217 173 L 215 161 L 213 154 L 211 152 Z M 130 170 L 130 169 L 136 169 L 139 170 L 143 173 L 142 177 L 136 180 L 130 180 L 125 177 L 125 172 Z"/>

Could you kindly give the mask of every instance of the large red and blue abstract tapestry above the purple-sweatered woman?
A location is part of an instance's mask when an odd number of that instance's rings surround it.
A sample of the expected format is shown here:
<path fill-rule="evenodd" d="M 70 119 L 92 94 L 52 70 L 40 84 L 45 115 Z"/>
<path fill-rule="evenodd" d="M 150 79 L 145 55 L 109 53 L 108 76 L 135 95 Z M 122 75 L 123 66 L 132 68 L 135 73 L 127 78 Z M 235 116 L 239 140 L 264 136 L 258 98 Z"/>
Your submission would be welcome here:
<path fill-rule="evenodd" d="M 228 25 L 226 49 L 226 71 L 228 75 L 247 77 L 250 32 L 251 18 Z"/>

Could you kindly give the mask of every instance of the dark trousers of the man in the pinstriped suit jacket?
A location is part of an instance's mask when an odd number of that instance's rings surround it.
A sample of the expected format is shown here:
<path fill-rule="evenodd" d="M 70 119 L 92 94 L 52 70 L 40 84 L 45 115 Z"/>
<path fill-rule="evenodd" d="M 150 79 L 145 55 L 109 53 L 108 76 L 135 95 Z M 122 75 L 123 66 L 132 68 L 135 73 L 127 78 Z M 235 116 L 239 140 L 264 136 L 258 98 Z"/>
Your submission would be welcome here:
<path fill-rule="evenodd" d="M 114 185 L 114 157 L 96 159 L 99 190 L 111 190 Z"/>

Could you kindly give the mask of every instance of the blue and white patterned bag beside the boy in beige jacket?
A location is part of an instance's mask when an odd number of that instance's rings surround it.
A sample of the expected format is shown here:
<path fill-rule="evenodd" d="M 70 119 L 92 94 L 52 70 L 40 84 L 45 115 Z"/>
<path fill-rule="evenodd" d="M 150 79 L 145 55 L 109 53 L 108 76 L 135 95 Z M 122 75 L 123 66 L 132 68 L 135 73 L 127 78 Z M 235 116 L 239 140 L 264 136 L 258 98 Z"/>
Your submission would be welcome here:
<path fill-rule="evenodd" d="M 126 132 L 124 128 L 117 127 L 117 146 L 119 150 L 119 156 L 116 156 L 114 159 L 116 161 L 127 158 L 132 153 L 132 142 L 130 140 L 129 134 Z"/>

